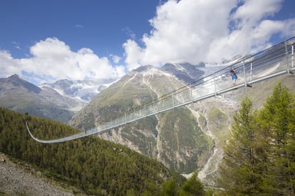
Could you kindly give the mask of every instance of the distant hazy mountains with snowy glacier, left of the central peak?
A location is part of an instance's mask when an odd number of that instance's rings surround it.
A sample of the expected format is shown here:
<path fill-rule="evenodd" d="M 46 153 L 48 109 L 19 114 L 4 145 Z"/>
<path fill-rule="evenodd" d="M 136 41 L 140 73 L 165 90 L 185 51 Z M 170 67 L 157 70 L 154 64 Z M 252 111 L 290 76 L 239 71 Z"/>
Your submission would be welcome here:
<path fill-rule="evenodd" d="M 73 114 L 115 80 L 58 80 L 36 86 L 11 75 L 0 79 L 0 106 L 68 123 Z"/>

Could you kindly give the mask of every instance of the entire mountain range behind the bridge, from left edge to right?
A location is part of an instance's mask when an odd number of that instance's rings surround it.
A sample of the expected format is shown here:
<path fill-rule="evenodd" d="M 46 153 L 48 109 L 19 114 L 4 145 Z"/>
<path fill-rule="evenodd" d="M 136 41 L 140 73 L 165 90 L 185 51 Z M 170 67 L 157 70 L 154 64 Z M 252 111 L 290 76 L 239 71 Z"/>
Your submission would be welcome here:
<path fill-rule="evenodd" d="M 0 106 L 87 130 L 224 67 L 205 63 L 167 63 L 160 68 L 146 65 L 116 81 L 58 80 L 40 86 L 12 75 L 0 79 Z M 199 178 L 214 185 L 222 146 L 239 101 L 247 94 L 255 107 L 261 106 L 278 80 L 294 85 L 290 75 L 276 77 L 120 126 L 100 137 L 128 146 L 179 173 L 198 168 Z"/>

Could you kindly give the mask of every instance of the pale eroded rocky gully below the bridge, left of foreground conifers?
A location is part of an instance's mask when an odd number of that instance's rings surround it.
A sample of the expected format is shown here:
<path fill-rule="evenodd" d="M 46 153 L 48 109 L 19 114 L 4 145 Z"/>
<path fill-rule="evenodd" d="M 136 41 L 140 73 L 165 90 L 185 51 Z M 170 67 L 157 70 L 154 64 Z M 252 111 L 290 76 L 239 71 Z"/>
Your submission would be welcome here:
<path fill-rule="evenodd" d="M 234 101 L 234 92 L 222 97 L 206 99 L 194 104 L 192 113 L 200 125 L 200 129 L 213 139 L 211 154 L 200 160 L 198 177 L 207 186 L 216 185 L 216 175 L 219 162 L 222 160 L 223 146 L 229 135 L 232 116 L 238 109 L 238 102 Z"/>

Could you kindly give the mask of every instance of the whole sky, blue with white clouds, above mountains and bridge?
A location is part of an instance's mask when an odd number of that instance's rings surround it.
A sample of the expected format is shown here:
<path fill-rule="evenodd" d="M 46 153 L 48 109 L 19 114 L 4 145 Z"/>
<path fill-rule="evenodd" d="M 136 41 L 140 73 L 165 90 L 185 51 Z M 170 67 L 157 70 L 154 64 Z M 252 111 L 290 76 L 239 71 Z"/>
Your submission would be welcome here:
<path fill-rule="evenodd" d="M 0 77 L 40 85 L 221 62 L 295 36 L 294 0 L 1 0 Z"/>

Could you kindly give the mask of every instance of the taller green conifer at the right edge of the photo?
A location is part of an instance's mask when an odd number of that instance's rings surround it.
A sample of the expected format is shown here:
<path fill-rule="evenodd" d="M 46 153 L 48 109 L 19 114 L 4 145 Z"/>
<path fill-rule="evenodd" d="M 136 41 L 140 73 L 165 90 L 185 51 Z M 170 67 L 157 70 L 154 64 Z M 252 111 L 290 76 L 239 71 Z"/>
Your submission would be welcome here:
<path fill-rule="evenodd" d="M 295 194 L 294 107 L 294 97 L 279 82 L 259 114 L 262 131 L 269 137 L 269 166 L 264 186 L 266 192 L 271 194 Z"/>

